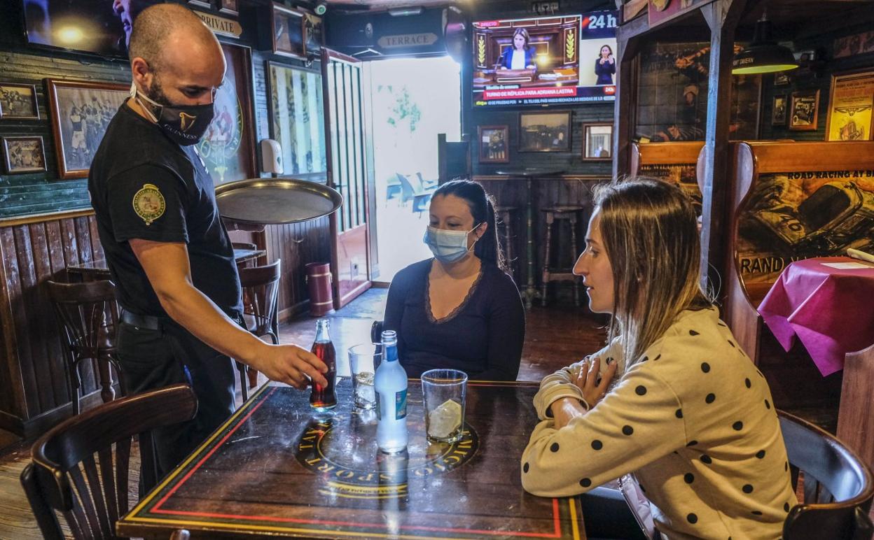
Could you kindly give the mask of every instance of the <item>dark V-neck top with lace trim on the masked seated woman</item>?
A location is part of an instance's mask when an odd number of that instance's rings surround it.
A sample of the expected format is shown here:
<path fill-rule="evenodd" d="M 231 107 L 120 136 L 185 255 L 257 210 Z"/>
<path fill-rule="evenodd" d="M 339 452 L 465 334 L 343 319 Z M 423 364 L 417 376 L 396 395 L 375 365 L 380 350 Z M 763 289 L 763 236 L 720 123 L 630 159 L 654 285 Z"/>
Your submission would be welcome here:
<path fill-rule="evenodd" d="M 407 377 L 451 368 L 476 380 L 516 380 L 525 338 L 525 312 L 513 279 L 483 264 L 461 305 L 434 319 L 428 272 L 434 259 L 413 263 L 392 279 L 383 330 L 398 332 L 398 357 Z"/>

